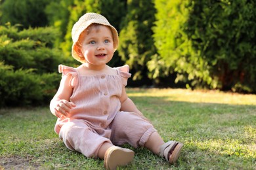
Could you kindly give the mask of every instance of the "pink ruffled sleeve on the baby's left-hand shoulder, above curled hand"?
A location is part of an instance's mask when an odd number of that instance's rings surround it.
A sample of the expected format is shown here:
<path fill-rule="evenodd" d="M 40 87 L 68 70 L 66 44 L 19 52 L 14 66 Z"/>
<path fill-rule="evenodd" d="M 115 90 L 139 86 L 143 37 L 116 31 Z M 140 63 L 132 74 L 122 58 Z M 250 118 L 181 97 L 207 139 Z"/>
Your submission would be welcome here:
<path fill-rule="evenodd" d="M 78 80 L 77 78 L 78 74 L 75 68 L 68 67 L 66 65 L 58 65 L 58 72 L 62 73 L 62 77 L 71 75 L 72 77 L 70 78 L 69 86 L 72 88 L 76 86 L 77 80 Z"/>

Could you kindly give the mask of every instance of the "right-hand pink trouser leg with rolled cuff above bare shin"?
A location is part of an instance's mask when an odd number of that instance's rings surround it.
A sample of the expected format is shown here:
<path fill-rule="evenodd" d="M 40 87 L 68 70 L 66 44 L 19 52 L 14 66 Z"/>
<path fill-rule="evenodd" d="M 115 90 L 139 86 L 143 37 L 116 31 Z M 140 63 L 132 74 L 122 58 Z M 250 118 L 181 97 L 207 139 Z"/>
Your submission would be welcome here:
<path fill-rule="evenodd" d="M 156 131 L 148 120 L 133 112 L 117 113 L 110 128 L 112 143 L 129 143 L 135 148 L 144 146 L 150 135 Z"/>

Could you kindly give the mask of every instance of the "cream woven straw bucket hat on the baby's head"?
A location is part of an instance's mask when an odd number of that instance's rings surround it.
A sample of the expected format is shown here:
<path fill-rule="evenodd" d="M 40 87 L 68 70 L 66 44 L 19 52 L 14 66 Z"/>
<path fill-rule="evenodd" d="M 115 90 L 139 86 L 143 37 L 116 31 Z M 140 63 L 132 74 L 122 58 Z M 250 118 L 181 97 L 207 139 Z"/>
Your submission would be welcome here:
<path fill-rule="evenodd" d="M 102 16 L 100 14 L 92 13 L 92 12 L 86 13 L 83 16 L 81 16 L 81 18 L 79 18 L 79 20 L 74 24 L 74 26 L 72 28 L 72 40 L 73 40 L 72 56 L 77 61 L 80 61 L 81 63 L 84 63 L 85 59 L 79 57 L 79 55 L 74 50 L 74 46 L 75 46 L 75 43 L 78 41 L 80 34 L 85 29 L 87 29 L 87 27 L 89 27 L 89 25 L 91 25 L 93 23 L 102 24 L 102 25 L 106 25 L 106 26 L 110 27 L 110 29 L 112 31 L 112 35 L 113 35 L 114 50 L 117 50 L 117 47 L 118 47 L 119 39 L 118 39 L 118 33 L 116 31 L 116 28 L 113 27 L 112 25 L 110 25 L 110 23 L 104 16 Z"/>

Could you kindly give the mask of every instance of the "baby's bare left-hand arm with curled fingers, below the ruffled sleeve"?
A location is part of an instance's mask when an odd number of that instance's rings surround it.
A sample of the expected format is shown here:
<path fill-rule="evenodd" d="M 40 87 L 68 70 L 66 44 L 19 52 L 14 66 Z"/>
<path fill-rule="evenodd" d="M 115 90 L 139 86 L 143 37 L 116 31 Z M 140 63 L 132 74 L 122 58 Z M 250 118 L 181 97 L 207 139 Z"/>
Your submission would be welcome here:
<path fill-rule="evenodd" d="M 62 115 L 68 116 L 72 107 L 75 107 L 75 104 L 70 102 L 70 96 L 73 93 L 73 88 L 69 86 L 71 78 L 72 75 L 62 77 L 60 87 L 50 103 L 51 112 L 58 118 Z"/>

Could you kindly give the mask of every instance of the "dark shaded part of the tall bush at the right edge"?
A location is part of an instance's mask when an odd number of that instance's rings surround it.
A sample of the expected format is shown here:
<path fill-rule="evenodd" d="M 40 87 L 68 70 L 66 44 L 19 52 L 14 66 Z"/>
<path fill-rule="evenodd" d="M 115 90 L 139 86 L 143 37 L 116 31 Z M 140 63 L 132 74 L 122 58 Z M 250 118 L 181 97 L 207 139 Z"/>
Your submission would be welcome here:
<path fill-rule="evenodd" d="M 255 7 L 246 0 L 194 2 L 187 33 L 209 67 L 213 88 L 215 80 L 222 90 L 256 90 Z"/>

